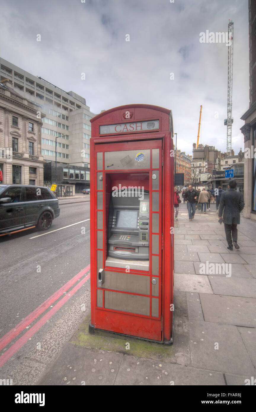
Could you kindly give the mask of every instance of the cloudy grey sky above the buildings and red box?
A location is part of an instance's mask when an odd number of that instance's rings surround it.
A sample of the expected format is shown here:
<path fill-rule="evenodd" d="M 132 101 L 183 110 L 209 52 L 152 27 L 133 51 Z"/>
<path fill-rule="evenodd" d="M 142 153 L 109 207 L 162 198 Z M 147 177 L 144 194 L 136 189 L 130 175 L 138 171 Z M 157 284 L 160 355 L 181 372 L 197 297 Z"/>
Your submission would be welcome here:
<path fill-rule="evenodd" d="M 237 154 L 244 147 L 240 117 L 249 108 L 248 2 L 171 1 L 2 0 L 1 57 L 80 94 L 96 114 L 130 103 L 172 109 L 177 148 L 188 154 L 202 105 L 199 142 L 224 152 L 228 47 L 201 43 L 200 33 L 227 32 L 230 19 Z"/>

